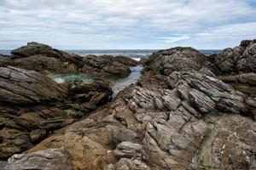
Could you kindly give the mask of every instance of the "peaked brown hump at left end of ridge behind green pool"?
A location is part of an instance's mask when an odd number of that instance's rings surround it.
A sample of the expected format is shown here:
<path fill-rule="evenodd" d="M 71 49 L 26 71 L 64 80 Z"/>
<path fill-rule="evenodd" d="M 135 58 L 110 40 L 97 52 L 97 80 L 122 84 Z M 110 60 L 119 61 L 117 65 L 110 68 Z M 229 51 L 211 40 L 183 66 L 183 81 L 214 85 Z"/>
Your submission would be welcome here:
<path fill-rule="evenodd" d="M 12 50 L 11 54 L 13 62 L 10 65 L 46 74 L 76 73 L 84 65 L 82 57 L 38 42 L 28 42 L 26 46 Z"/>

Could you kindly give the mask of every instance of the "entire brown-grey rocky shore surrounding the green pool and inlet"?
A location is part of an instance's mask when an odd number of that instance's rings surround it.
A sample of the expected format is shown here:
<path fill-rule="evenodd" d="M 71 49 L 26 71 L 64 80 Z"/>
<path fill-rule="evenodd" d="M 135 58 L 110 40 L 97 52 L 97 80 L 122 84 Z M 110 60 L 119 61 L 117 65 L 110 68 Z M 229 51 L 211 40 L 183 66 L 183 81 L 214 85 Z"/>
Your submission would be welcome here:
<path fill-rule="evenodd" d="M 256 40 L 211 56 L 160 50 L 113 100 L 106 82 L 57 84 L 44 76 L 129 75 L 129 66 L 139 64 L 82 58 L 36 42 L 13 50 L 0 60 L 0 157 L 9 158 L 0 166 L 256 168 Z"/>

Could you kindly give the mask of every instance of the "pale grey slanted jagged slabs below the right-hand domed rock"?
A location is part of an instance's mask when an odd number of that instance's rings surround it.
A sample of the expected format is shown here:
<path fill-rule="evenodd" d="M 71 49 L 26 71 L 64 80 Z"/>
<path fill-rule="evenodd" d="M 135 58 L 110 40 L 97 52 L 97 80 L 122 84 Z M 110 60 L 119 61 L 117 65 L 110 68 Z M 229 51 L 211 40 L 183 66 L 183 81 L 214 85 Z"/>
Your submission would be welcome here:
<path fill-rule="evenodd" d="M 175 71 L 170 75 L 169 83 L 172 88 L 178 88 L 178 86 L 180 86 L 179 84 L 187 84 L 190 88 L 196 89 L 194 92 L 200 91 L 197 94 L 203 93 L 201 96 L 198 96 L 197 100 L 195 101 L 195 98 L 193 98 L 193 95 L 191 95 L 193 91 L 191 91 L 191 89 L 186 89 L 186 91 L 189 90 L 190 102 L 192 105 L 199 105 L 200 108 L 198 109 L 200 110 L 212 111 L 214 108 L 216 108 L 219 111 L 231 111 L 234 113 L 247 112 L 246 105 L 243 103 L 246 96 L 237 92 L 230 85 L 225 84 L 218 79 L 207 77 L 206 75 L 201 75 L 193 71 Z M 186 94 L 186 92 L 180 93 Z M 193 94 L 195 95 L 196 93 Z M 213 101 L 215 102 L 215 105 Z M 208 105 L 208 109 L 207 107 L 201 107 L 203 106 L 202 104 Z"/>

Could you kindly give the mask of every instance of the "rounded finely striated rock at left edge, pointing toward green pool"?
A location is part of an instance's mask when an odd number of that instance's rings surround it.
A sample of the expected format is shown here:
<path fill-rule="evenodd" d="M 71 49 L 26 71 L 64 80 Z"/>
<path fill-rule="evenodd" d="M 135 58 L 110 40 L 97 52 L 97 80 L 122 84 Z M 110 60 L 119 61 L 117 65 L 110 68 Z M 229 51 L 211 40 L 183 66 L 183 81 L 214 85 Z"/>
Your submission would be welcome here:
<path fill-rule="evenodd" d="M 0 102 L 32 105 L 47 101 L 60 101 L 67 89 L 35 71 L 15 67 L 0 67 Z"/>

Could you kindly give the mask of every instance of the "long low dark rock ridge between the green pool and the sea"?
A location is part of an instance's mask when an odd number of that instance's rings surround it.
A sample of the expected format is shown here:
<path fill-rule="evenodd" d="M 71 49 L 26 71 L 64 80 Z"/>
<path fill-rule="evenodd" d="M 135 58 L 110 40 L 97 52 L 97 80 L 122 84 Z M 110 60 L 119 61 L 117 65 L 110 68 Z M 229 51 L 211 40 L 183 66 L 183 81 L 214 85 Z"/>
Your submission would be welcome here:
<path fill-rule="evenodd" d="M 49 73 L 86 73 L 88 76 L 129 75 L 129 66 L 139 65 L 135 59 L 125 56 L 87 56 L 67 54 L 38 42 L 11 51 L 11 56 L 0 58 L 0 66 L 12 65 L 30 71 Z"/>

